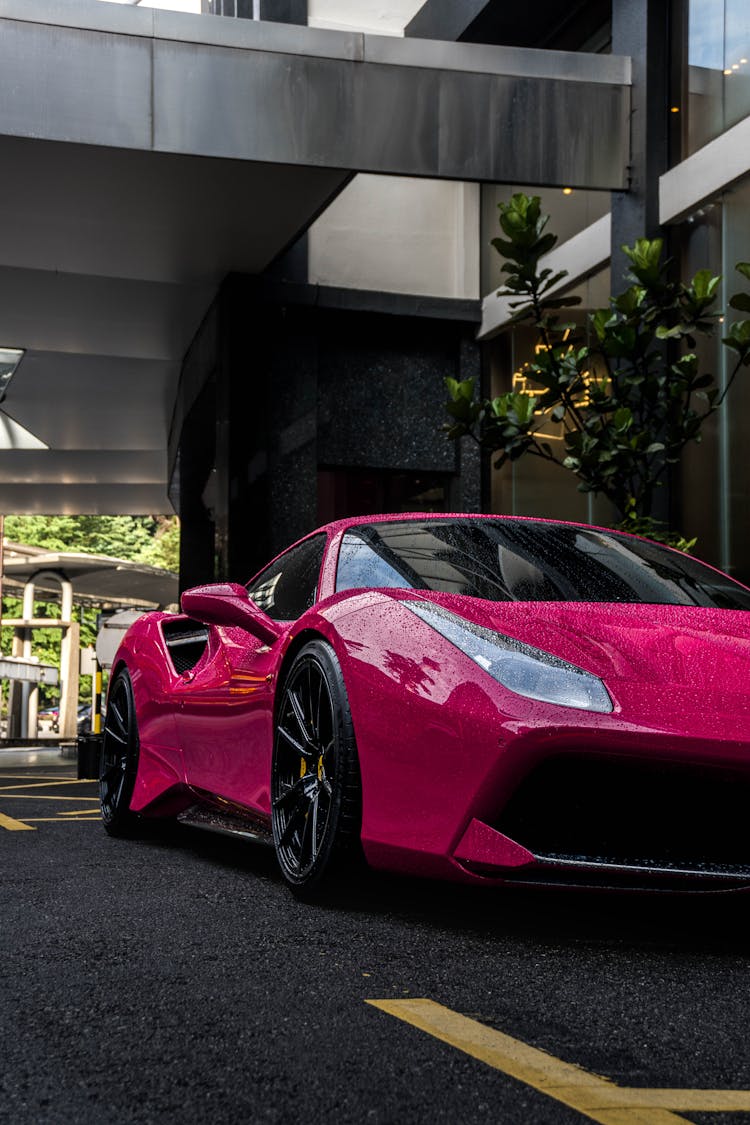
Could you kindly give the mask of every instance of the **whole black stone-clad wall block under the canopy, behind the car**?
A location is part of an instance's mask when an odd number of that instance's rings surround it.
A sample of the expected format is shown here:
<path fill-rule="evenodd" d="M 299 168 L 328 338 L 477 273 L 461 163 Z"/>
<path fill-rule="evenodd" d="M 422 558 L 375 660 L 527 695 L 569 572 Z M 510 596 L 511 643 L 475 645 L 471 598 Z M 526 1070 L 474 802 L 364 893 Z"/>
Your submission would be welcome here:
<path fill-rule="evenodd" d="M 324 519 L 359 514 L 352 505 L 398 510 L 419 488 L 445 487 L 450 507 L 481 510 L 476 448 L 459 453 L 440 432 L 444 376 L 480 370 L 473 322 L 450 303 L 425 315 L 423 300 L 408 299 L 397 315 L 358 310 L 350 292 L 329 294 L 332 307 L 324 299 L 313 287 L 231 276 L 191 345 L 171 489 L 183 588 L 245 582 Z M 370 295 L 368 305 L 395 300 Z M 349 489 L 334 515 L 319 514 L 319 468 Z M 360 495 L 371 484 L 377 507 Z"/>

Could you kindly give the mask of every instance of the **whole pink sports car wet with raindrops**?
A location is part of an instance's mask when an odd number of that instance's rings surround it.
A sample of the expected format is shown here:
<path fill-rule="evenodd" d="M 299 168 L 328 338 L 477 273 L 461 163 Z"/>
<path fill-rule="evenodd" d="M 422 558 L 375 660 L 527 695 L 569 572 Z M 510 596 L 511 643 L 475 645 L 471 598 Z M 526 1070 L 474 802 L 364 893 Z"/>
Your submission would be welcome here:
<path fill-rule="evenodd" d="M 750 888 L 750 590 L 549 520 L 332 523 L 148 613 L 112 665 L 101 812 L 475 883 Z"/>

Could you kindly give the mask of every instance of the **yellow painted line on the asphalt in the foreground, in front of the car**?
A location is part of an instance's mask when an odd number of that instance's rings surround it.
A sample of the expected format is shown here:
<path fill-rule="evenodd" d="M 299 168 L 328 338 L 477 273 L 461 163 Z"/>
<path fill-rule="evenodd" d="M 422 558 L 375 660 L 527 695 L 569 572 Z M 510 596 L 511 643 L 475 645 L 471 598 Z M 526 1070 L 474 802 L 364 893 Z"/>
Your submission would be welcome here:
<path fill-rule="evenodd" d="M 750 1090 L 648 1090 L 617 1086 L 504 1032 L 433 1000 L 368 1000 L 464 1054 L 501 1070 L 599 1125 L 674 1125 L 674 1109 L 722 1113 L 750 1109 Z"/>

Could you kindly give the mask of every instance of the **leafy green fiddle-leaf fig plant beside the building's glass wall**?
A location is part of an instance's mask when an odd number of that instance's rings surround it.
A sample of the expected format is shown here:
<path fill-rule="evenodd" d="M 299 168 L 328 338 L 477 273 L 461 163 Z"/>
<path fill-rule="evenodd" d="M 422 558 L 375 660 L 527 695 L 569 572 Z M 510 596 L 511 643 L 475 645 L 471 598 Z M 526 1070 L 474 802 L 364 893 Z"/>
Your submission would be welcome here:
<path fill-rule="evenodd" d="M 672 281 L 661 238 L 639 238 L 622 248 L 629 288 L 589 315 L 588 333 L 577 330 L 560 314 L 579 298 L 550 295 L 567 274 L 541 268 L 557 242 L 545 231 L 548 219 L 539 196 L 514 195 L 499 205 L 505 237 L 493 242 L 505 259 L 499 295 L 517 298 L 510 302 L 516 322 L 531 322 L 537 333 L 524 375 L 540 389 L 490 400 L 476 397 L 473 380 L 448 379 L 451 421 L 443 429 L 453 440 L 473 436 L 497 454 L 496 467 L 526 454 L 560 465 L 578 477 L 579 490 L 606 496 L 629 530 L 649 521 L 656 538 L 665 538 L 650 520 L 654 492 L 685 446 L 701 440 L 740 368 L 750 367 L 750 320 L 735 322 L 723 338 L 737 360 L 720 393 L 695 349 L 720 321 L 721 278 L 698 270 L 687 284 Z M 750 263 L 737 268 L 750 280 Z M 730 305 L 750 312 L 750 294 Z M 550 422 L 562 425 L 563 440 L 555 443 L 561 456 L 544 440 Z"/>

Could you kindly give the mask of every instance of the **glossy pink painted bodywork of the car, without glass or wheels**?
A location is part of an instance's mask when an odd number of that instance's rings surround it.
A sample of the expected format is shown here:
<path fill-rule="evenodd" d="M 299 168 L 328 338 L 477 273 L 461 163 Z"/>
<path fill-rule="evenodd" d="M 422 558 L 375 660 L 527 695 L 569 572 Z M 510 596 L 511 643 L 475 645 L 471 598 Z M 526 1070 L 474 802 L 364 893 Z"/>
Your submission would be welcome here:
<path fill-rule="evenodd" d="M 209 626 L 184 676 L 147 614 L 116 657 L 130 670 L 141 758 L 132 808 L 180 811 L 210 793 L 270 821 L 273 703 L 300 634 L 341 664 L 362 775 L 370 864 L 464 881 L 503 880 L 534 857 L 490 825 L 519 780 L 551 755 L 750 765 L 750 613 L 672 605 L 485 602 L 407 590 L 335 594 L 343 533 L 328 526 L 318 602 L 275 639 Z M 497 519 L 491 518 L 491 519 Z M 426 598 L 553 652 L 606 683 L 608 714 L 504 688 L 404 605 Z M 268 619 L 266 619 L 268 620 Z"/>

